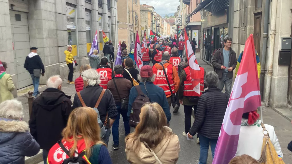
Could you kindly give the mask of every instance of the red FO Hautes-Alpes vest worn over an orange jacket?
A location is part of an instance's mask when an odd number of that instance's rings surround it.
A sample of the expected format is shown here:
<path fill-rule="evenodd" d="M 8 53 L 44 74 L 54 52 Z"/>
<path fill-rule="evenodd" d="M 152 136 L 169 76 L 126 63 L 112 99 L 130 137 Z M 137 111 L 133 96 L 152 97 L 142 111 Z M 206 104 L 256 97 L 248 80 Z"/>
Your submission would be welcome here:
<path fill-rule="evenodd" d="M 173 68 L 173 65 L 169 64 L 168 67 L 165 69 L 165 71 L 167 74 L 169 84 L 171 86 L 172 93 L 174 93 L 174 85 L 173 85 L 173 79 L 172 79 L 172 68 Z M 168 83 L 166 81 L 166 77 L 164 75 L 163 69 L 157 69 L 155 66 L 153 66 L 152 69 L 153 69 L 153 74 L 156 74 L 156 78 L 155 78 L 155 81 L 153 82 L 153 84 L 161 87 L 164 90 L 164 93 L 166 96 L 171 95 L 171 92 L 169 90 L 169 86 L 168 86 Z"/>

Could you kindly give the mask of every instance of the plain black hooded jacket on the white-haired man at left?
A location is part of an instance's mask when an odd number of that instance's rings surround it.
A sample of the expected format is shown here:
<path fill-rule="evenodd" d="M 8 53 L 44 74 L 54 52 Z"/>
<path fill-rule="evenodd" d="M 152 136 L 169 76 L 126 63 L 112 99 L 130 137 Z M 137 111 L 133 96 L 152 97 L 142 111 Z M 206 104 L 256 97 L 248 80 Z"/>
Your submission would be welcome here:
<path fill-rule="evenodd" d="M 62 139 L 61 132 L 72 111 L 70 98 L 58 89 L 47 88 L 34 100 L 29 128 L 41 149 L 50 150 Z"/>

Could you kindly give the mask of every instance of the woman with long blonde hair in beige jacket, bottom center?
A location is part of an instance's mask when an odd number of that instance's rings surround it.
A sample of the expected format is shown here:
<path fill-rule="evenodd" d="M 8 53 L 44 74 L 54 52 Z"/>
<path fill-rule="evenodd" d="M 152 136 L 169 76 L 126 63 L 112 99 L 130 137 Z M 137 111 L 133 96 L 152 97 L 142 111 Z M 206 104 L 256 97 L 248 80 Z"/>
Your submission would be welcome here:
<path fill-rule="evenodd" d="M 173 164 L 180 152 L 178 136 L 166 126 L 166 116 L 157 103 L 147 103 L 141 108 L 140 123 L 126 139 L 129 163 Z"/>

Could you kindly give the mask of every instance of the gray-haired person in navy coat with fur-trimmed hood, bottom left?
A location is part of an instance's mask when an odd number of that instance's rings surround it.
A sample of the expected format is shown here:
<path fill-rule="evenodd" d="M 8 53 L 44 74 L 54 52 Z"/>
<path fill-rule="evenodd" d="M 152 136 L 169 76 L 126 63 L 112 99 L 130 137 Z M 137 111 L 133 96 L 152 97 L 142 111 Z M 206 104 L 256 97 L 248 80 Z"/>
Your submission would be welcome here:
<path fill-rule="evenodd" d="M 34 156 L 40 146 L 22 121 L 23 108 L 17 100 L 0 104 L 0 163 L 25 163 L 25 156 Z"/>

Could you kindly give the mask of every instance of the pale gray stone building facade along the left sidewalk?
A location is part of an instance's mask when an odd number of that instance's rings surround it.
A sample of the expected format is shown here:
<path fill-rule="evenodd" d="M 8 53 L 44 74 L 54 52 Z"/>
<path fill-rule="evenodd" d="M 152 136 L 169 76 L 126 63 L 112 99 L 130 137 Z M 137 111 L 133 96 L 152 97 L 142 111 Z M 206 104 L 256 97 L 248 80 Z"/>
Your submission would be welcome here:
<path fill-rule="evenodd" d="M 102 53 L 102 30 L 117 47 L 117 0 L 1 0 L 0 59 L 16 87 L 32 84 L 23 67 L 30 47 L 37 47 L 45 65 L 40 84 L 55 74 L 68 76 L 64 51 L 71 44 L 79 66 L 88 64 L 87 53 L 98 31 Z"/>

